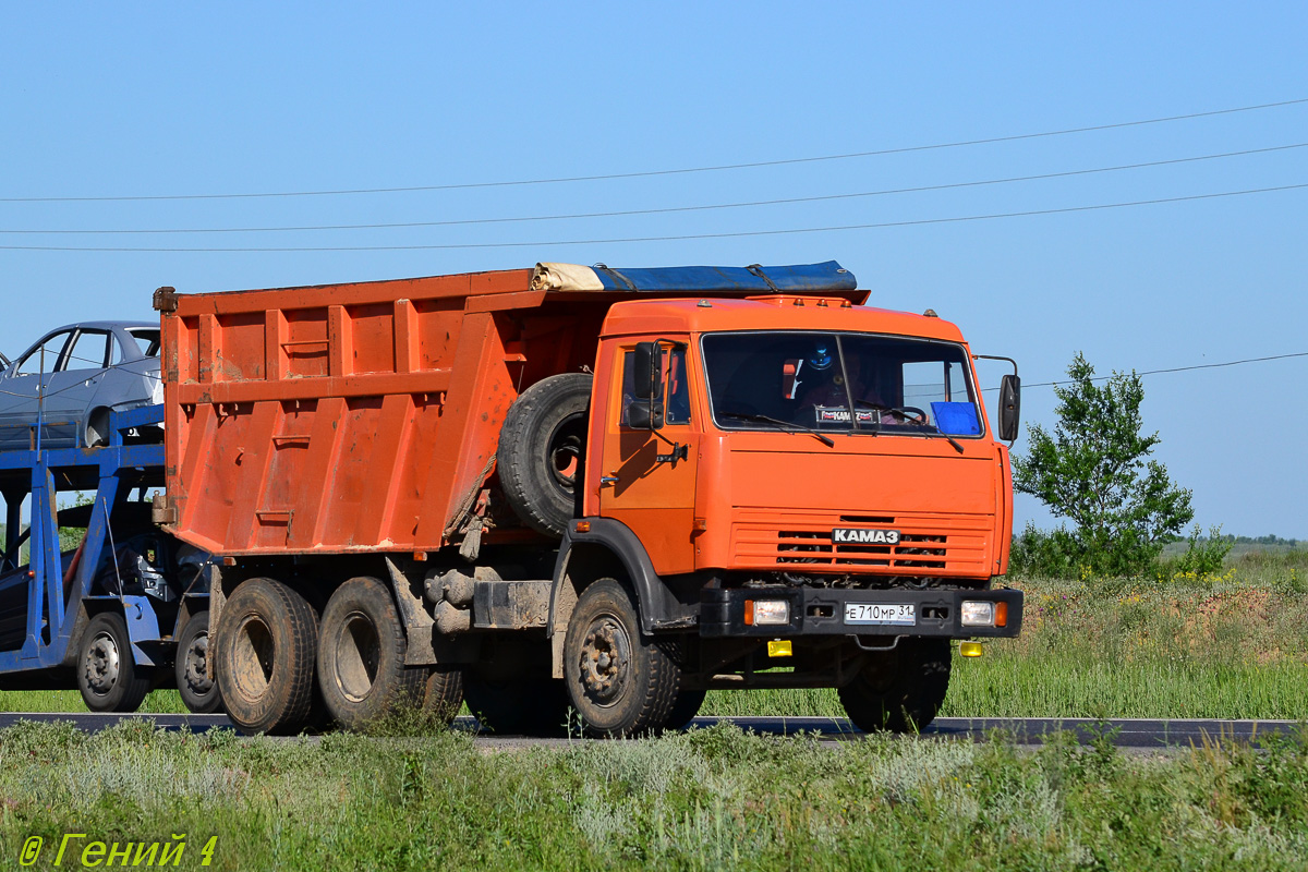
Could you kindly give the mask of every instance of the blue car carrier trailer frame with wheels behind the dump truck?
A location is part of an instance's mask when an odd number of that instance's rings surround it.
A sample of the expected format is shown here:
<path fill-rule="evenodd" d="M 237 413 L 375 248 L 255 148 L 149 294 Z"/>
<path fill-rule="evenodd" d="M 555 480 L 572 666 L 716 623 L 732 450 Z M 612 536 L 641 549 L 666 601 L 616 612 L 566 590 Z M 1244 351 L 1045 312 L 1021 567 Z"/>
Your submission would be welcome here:
<path fill-rule="evenodd" d="M 208 556 L 153 527 L 143 497 L 164 485 L 164 446 L 129 443 L 162 420 L 161 405 L 112 412 L 107 444 L 46 450 L 38 418 L 29 450 L 0 452 L 0 689 L 77 688 L 93 711 L 123 713 L 177 681 L 192 711 L 217 710 Z M 60 494 L 88 493 L 59 509 Z M 75 550 L 61 552 L 60 528 L 85 529 Z"/>

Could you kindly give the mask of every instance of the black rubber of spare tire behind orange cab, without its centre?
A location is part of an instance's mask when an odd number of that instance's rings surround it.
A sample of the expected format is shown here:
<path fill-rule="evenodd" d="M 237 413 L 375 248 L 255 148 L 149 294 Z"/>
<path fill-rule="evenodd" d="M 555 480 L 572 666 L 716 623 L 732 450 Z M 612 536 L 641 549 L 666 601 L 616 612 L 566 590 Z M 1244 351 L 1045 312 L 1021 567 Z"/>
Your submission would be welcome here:
<path fill-rule="evenodd" d="M 547 477 L 547 442 L 565 418 L 585 414 L 591 382 L 586 373 L 536 382 L 514 400 L 500 428 L 496 469 L 505 499 L 528 527 L 547 536 L 562 536 L 576 505 L 573 494 L 560 497 Z"/>

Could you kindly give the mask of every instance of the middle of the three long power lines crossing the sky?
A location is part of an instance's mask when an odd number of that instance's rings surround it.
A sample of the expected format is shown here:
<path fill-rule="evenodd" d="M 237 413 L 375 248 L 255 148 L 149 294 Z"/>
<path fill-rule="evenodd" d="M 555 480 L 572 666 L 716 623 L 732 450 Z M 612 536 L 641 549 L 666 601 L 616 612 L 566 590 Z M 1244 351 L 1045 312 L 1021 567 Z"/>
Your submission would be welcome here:
<path fill-rule="evenodd" d="M 641 214 L 668 214 L 679 212 L 708 212 L 713 209 L 740 209 L 747 207 L 786 205 L 795 203 L 823 203 L 831 200 L 852 200 L 859 197 L 875 197 L 891 193 L 922 193 L 927 191 L 950 191 L 957 188 L 982 187 L 990 184 L 1008 184 L 1014 182 L 1037 182 L 1045 179 L 1059 179 L 1078 175 L 1092 175 L 1099 173 L 1117 173 L 1121 170 L 1138 170 L 1155 166 L 1171 166 L 1177 163 L 1194 163 L 1198 161 L 1215 161 L 1220 158 L 1245 157 L 1249 154 L 1267 154 L 1270 152 L 1286 152 L 1291 149 L 1308 148 L 1308 143 L 1295 143 L 1291 145 L 1273 145 L 1269 148 L 1245 149 L 1243 152 L 1223 152 L 1220 154 L 1199 154 L 1194 157 L 1168 158 L 1164 161 L 1147 161 L 1141 163 L 1121 163 L 1117 166 L 1101 166 L 1088 170 L 1066 170 L 1061 173 L 1041 173 L 1037 175 L 1015 175 L 1001 179 L 981 179 L 973 182 L 951 182 L 947 184 L 927 184 L 910 188 L 886 188 L 880 191 L 862 191 L 857 193 L 827 193 L 807 197 L 786 197 L 778 200 L 751 200 L 746 203 L 718 203 L 709 205 L 668 207 L 661 209 L 625 209 L 620 212 L 578 212 L 572 214 L 543 214 L 517 218 L 466 218 L 451 221 L 403 221 L 387 224 L 327 224 L 305 225 L 292 227 L 166 227 L 154 230 L 143 229 L 109 229 L 109 230 L 18 230 L 0 229 L 0 235 L 144 235 L 144 234 L 178 234 L 178 233 L 286 233 L 286 231 L 317 231 L 317 230 L 388 230 L 405 227 L 450 227 L 484 224 L 523 224 L 530 221 L 572 221 L 578 218 L 617 218 Z"/>

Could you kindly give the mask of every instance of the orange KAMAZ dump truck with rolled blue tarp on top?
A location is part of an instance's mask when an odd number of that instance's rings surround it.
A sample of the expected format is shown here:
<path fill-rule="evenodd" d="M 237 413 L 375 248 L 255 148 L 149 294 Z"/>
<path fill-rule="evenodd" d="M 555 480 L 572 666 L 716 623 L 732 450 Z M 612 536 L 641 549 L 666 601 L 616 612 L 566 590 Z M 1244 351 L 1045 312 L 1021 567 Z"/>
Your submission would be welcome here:
<path fill-rule="evenodd" d="M 160 289 L 154 515 L 221 558 L 232 719 L 634 735 L 832 686 L 925 726 L 951 639 L 1022 624 L 1018 379 L 991 424 L 954 324 L 866 301 L 835 261 Z"/>

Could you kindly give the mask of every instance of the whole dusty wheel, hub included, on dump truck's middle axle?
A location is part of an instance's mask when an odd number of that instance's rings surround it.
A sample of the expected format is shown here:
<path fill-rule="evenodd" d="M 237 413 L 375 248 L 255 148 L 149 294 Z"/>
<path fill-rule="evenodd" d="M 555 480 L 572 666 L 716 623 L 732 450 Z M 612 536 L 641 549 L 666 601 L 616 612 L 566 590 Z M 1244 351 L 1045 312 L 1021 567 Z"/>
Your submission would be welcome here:
<path fill-rule="evenodd" d="M 337 724 L 358 729 L 396 706 L 422 699 L 428 671 L 405 667 L 408 642 L 391 592 L 352 578 L 331 595 L 318 645 L 318 686 Z"/>

